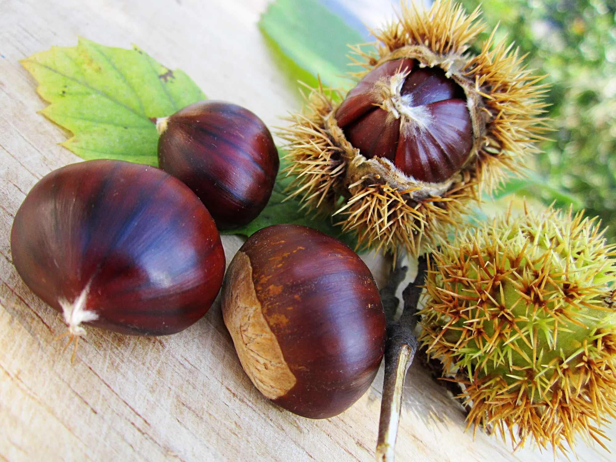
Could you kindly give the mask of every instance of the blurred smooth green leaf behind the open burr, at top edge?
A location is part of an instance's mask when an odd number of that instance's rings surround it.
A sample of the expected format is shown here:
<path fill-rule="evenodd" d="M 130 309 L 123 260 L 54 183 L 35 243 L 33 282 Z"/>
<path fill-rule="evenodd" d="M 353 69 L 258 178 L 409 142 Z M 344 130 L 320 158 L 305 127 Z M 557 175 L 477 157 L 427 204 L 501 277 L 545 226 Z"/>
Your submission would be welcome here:
<path fill-rule="evenodd" d="M 320 76 L 326 86 L 349 86 L 351 52 L 347 45 L 364 42 L 354 28 L 317 0 L 276 0 L 261 16 L 259 28 L 299 68 L 296 78 L 314 86 Z M 306 82 L 305 74 L 312 76 Z"/>

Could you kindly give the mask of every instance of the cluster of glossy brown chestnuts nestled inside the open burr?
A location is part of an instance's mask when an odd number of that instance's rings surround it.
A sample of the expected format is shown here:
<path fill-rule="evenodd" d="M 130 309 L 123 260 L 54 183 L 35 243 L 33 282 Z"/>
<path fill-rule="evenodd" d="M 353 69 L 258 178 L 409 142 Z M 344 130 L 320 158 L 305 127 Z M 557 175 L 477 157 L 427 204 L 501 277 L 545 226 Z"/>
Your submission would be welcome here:
<path fill-rule="evenodd" d="M 367 73 L 336 111 L 338 126 L 365 158 L 384 157 L 405 175 L 439 183 L 472 148 L 461 86 L 438 67 L 397 59 Z"/>

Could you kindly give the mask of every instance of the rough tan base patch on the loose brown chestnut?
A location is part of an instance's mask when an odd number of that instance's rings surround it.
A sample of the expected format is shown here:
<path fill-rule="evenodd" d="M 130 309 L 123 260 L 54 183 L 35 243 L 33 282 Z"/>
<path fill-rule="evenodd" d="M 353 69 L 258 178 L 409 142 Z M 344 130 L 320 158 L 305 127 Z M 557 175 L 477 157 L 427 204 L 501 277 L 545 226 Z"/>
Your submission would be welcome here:
<path fill-rule="evenodd" d="M 254 291 L 253 268 L 243 252 L 233 257 L 222 288 L 222 318 L 235 351 L 254 386 L 268 399 L 284 396 L 296 383 Z M 286 320 L 286 319 L 285 319 Z M 285 320 L 280 320 L 283 324 Z"/>

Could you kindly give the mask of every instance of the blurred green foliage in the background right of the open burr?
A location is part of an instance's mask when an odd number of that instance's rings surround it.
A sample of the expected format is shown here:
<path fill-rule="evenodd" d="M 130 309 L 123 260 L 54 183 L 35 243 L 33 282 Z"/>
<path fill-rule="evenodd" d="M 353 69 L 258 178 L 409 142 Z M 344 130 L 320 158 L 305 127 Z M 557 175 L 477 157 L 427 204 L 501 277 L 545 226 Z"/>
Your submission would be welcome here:
<path fill-rule="evenodd" d="M 537 177 L 504 190 L 599 215 L 616 241 L 616 1 L 461 0 L 482 5 L 488 29 L 528 53 L 547 75 L 553 141 L 541 144 Z M 485 33 L 485 36 L 489 33 Z"/>

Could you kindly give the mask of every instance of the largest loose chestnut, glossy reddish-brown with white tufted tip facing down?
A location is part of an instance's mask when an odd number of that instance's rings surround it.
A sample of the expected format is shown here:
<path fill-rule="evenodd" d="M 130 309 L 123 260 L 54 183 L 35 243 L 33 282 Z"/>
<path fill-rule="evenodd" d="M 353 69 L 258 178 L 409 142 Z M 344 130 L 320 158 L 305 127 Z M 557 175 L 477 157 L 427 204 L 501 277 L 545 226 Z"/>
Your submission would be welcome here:
<path fill-rule="evenodd" d="M 216 225 L 180 180 L 116 160 L 71 164 L 43 177 L 20 206 L 13 262 L 64 316 L 126 334 L 172 334 L 200 319 L 220 290 Z"/>

